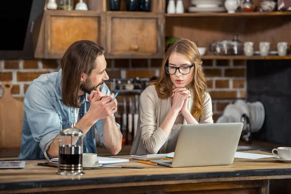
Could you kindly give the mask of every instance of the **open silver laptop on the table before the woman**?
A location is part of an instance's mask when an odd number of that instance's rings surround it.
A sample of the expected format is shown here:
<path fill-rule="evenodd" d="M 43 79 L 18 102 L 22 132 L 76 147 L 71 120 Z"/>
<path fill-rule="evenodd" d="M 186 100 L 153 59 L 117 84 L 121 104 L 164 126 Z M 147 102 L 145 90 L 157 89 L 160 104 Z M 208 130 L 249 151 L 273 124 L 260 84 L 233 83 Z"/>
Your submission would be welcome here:
<path fill-rule="evenodd" d="M 182 125 L 173 160 L 151 160 L 169 167 L 232 164 L 243 123 Z"/>

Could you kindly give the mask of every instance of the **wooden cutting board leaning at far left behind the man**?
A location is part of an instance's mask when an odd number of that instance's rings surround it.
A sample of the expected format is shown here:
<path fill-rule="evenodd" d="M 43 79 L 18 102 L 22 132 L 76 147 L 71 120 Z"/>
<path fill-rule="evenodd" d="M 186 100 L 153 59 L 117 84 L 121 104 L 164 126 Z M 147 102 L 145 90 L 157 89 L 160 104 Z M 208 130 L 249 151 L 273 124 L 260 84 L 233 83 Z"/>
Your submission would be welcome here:
<path fill-rule="evenodd" d="M 0 148 L 20 147 L 23 120 L 23 103 L 11 96 L 12 84 L 1 84 L 0 98 Z"/>

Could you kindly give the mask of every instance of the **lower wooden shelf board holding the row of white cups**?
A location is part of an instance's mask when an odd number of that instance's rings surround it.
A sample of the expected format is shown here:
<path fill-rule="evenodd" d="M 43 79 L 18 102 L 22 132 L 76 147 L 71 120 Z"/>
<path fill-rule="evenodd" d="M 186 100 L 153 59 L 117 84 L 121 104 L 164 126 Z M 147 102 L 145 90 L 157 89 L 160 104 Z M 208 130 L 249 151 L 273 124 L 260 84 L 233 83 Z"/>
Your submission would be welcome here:
<path fill-rule="evenodd" d="M 228 60 L 228 59 L 233 59 L 233 60 L 286 60 L 286 59 L 291 59 L 291 55 L 287 55 L 287 56 L 284 56 L 284 57 L 280 57 L 280 56 L 266 56 L 266 57 L 262 57 L 262 56 L 259 56 L 259 55 L 255 55 L 255 56 L 233 56 L 233 55 L 230 55 L 230 56 L 219 56 L 219 55 L 204 55 L 204 56 L 201 56 L 201 58 L 203 60 L 212 60 L 212 59 L 217 59 L 217 60 Z"/>

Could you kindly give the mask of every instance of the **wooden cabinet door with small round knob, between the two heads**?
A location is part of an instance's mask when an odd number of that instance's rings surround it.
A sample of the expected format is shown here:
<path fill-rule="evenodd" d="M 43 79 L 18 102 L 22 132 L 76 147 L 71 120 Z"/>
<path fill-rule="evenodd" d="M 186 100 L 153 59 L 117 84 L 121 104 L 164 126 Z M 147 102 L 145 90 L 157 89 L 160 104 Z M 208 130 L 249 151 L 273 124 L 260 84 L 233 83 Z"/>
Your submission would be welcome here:
<path fill-rule="evenodd" d="M 163 14 L 107 13 L 108 58 L 162 58 L 163 53 Z"/>

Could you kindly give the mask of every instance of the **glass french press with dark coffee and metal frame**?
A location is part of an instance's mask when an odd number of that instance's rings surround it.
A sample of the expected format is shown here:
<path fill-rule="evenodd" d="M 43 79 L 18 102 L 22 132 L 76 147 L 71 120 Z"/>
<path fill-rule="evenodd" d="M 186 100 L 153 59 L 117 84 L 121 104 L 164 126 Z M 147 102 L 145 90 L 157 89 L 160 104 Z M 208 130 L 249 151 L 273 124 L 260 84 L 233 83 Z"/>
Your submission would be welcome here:
<path fill-rule="evenodd" d="M 58 175 L 83 175 L 82 154 L 83 154 L 84 133 L 75 128 L 75 123 L 70 123 L 69 128 L 60 132 L 59 138 L 49 140 L 44 147 L 44 155 L 49 162 L 47 145 L 50 141 L 59 140 L 59 170 Z"/>

